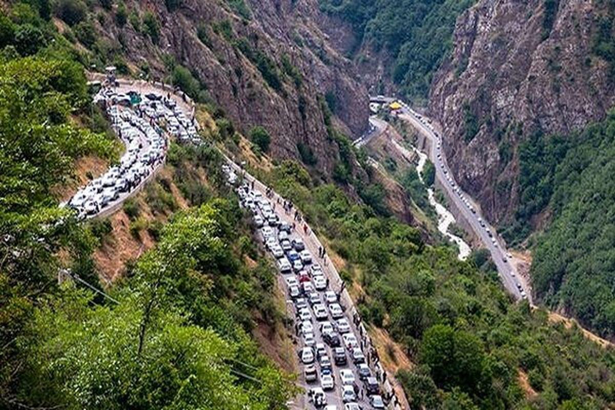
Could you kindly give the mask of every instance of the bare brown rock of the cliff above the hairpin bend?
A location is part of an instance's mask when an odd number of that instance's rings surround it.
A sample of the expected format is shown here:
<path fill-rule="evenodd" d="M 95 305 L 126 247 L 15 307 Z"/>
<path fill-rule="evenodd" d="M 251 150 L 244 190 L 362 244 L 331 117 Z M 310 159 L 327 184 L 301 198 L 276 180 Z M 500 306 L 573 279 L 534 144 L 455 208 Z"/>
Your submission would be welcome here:
<path fill-rule="evenodd" d="M 170 11 L 163 0 L 127 2 L 141 17 L 149 11 L 159 20 L 157 44 L 130 23 L 111 23 L 113 15 L 97 28 L 108 41 L 122 44 L 131 63 L 147 63 L 154 73 L 164 73 L 164 54 L 172 55 L 244 133 L 254 125 L 266 127 L 274 157 L 299 158 L 297 145 L 304 144 L 314 151 L 316 167 L 330 175 L 338 149 L 324 124 L 324 96 L 335 99 L 336 127 L 356 138 L 368 125 L 368 94 L 352 64 L 328 46 L 328 36 L 315 23 L 321 18 L 317 0 L 246 0 L 252 10 L 248 18 L 224 1 L 177 3 Z M 199 28 L 207 44 L 199 39 Z M 279 87 L 264 79 L 263 56 L 279 74 Z"/>

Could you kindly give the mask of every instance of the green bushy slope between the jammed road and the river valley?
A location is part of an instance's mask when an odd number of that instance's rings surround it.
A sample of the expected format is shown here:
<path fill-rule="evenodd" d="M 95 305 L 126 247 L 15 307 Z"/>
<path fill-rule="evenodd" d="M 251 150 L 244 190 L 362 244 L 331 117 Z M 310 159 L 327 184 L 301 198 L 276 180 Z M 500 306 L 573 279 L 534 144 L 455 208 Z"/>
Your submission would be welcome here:
<path fill-rule="evenodd" d="M 387 329 L 416 363 L 397 374 L 412 406 L 601 409 L 613 404 L 613 352 L 585 339 L 579 329 L 550 323 L 544 310 L 515 304 L 485 251 L 459 261 L 450 248 L 424 243 L 417 229 L 379 216 L 338 187 L 312 183 L 295 162 L 259 173 L 295 200 L 346 261 L 341 276 L 348 288 L 360 290 L 356 298 L 363 318 Z"/>

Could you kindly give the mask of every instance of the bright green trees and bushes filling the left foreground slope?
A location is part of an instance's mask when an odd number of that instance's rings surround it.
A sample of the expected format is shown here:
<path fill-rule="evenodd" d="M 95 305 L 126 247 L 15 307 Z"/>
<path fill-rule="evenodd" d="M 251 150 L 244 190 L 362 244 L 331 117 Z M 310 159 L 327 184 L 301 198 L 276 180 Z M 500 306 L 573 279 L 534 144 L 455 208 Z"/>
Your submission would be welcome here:
<path fill-rule="evenodd" d="M 76 160 L 113 162 L 119 143 L 46 5 L 0 16 L 0 408 L 286 408 L 294 384 L 250 336 L 253 306 L 280 318 L 274 269 L 242 246 L 247 224 L 221 176 L 101 293 L 92 253 L 105 223 L 78 223 L 58 192 Z M 173 145 L 170 162 L 220 172 L 211 149 L 186 150 Z M 80 280 L 58 284 L 65 268 Z"/>

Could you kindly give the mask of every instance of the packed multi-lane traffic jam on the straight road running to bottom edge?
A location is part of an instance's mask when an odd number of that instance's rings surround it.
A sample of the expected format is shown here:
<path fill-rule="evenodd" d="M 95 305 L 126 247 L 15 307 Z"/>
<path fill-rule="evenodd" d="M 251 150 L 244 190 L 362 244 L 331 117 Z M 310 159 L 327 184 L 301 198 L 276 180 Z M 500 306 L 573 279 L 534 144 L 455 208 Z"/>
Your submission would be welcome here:
<path fill-rule="evenodd" d="M 250 211 L 258 238 L 284 279 L 288 306 L 295 316 L 301 385 L 306 386 L 308 402 L 325 410 L 386 408 L 379 381 L 367 364 L 339 293 L 296 233 L 298 227 L 282 221 L 277 213 L 292 213 L 290 202 L 275 202 L 269 192 L 263 195 L 253 184 L 241 183 L 229 165 L 223 165 L 223 171 L 228 183 L 238 186 L 240 205 Z"/>

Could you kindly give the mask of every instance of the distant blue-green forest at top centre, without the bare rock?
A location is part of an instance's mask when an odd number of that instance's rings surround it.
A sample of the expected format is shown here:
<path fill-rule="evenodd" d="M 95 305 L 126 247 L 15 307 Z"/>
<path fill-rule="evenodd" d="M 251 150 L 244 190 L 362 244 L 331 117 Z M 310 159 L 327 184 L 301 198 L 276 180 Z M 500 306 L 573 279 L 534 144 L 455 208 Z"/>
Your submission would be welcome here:
<path fill-rule="evenodd" d="M 452 48 L 455 21 L 475 0 L 320 0 L 320 8 L 351 23 L 361 42 L 391 56 L 395 84 L 424 100 Z"/>

